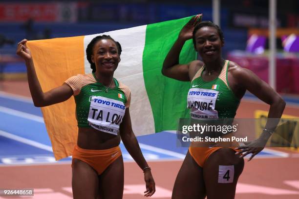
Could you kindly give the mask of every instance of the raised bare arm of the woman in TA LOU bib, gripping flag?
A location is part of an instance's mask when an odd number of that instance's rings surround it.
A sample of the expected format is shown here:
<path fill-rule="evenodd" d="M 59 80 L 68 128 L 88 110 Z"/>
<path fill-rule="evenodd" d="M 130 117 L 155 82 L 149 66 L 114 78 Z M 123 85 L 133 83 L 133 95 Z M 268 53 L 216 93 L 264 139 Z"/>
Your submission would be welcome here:
<path fill-rule="evenodd" d="M 73 90 L 65 83 L 62 86 L 54 88 L 48 92 L 43 92 L 35 72 L 31 52 L 26 46 L 26 42 L 27 40 L 21 40 L 21 42 L 18 43 L 16 53 L 25 60 L 28 84 L 34 105 L 38 107 L 48 106 L 69 99 L 73 95 Z"/>

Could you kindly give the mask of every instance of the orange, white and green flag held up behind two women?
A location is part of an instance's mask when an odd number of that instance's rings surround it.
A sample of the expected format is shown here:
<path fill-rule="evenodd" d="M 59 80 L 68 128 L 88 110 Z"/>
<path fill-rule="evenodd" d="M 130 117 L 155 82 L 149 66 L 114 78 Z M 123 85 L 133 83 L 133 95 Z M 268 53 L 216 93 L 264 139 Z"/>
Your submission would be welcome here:
<path fill-rule="evenodd" d="M 114 77 L 131 90 L 130 115 L 136 136 L 175 130 L 178 119 L 188 117 L 189 82 L 162 76 L 163 61 L 179 31 L 191 17 L 164 21 L 95 35 L 28 41 L 43 91 L 60 86 L 76 74 L 91 73 L 87 44 L 98 35 L 110 35 L 122 45 L 121 61 Z M 192 40 L 185 43 L 181 63 L 196 59 Z M 42 108 L 56 159 L 72 154 L 78 127 L 71 98 Z"/>

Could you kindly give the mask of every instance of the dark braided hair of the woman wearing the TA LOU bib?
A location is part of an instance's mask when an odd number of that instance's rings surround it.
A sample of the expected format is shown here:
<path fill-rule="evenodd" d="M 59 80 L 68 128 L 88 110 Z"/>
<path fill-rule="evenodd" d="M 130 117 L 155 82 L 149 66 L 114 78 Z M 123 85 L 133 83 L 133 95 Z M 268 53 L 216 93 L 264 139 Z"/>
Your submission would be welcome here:
<path fill-rule="evenodd" d="M 120 43 L 118 41 L 113 40 L 109 35 L 100 35 L 100 36 L 97 36 L 97 37 L 93 38 L 90 41 L 90 43 L 88 43 L 87 48 L 86 48 L 86 57 L 87 57 L 88 62 L 90 63 L 90 68 L 92 69 L 93 73 L 96 71 L 96 67 L 95 67 L 95 63 L 93 63 L 92 60 L 91 60 L 91 55 L 92 55 L 94 45 L 99 40 L 112 40 L 112 41 L 114 41 L 116 46 L 117 46 L 118 55 L 120 56 L 121 53 L 122 53 L 122 46 L 120 45 Z"/>

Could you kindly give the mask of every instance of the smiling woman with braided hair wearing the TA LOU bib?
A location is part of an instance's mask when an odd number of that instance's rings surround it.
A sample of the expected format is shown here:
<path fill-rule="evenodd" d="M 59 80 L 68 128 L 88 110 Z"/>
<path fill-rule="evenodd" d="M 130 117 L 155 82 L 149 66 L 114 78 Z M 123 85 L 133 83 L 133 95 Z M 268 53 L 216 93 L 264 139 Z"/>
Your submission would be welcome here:
<path fill-rule="evenodd" d="M 52 105 L 72 95 L 75 98 L 79 132 L 72 159 L 74 199 L 122 199 L 124 163 L 119 147 L 121 139 L 144 172 L 144 195 L 153 195 L 155 183 L 150 167 L 131 127 L 130 90 L 113 78 L 120 62 L 120 43 L 107 35 L 95 37 L 86 48 L 92 73 L 73 76 L 62 86 L 43 92 L 26 42 L 18 43 L 17 54 L 25 60 L 34 105 Z"/>

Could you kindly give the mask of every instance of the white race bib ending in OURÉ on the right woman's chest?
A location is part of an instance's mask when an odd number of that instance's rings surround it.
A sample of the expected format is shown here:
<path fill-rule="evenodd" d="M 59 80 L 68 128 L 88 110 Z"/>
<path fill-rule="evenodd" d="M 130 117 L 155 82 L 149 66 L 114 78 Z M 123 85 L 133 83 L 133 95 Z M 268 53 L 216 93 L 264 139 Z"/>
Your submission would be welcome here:
<path fill-rule="evenodd" d="M 217 119 L 215 103 L 219 92 L 210 89 L 191 88 L 187 97 L 187 108 L 192 119 Z"/>

